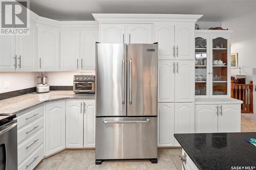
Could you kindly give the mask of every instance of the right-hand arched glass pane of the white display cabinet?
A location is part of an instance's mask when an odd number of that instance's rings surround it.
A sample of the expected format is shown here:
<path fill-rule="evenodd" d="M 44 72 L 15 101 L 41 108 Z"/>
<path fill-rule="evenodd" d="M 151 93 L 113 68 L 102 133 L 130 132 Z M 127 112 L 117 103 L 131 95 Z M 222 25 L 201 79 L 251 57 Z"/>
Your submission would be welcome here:
<path fill-rule="evenodd" d="M 227 95 L 227 39 L 212 39 L 212 95 Z"/>

